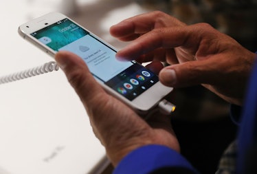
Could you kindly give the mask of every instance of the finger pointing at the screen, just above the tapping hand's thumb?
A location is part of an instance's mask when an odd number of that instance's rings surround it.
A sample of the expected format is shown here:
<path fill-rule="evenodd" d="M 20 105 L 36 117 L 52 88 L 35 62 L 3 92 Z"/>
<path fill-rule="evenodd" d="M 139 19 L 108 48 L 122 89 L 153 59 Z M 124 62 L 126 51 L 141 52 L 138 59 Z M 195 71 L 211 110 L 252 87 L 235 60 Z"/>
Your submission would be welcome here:
<path fill-rule="evenodd" d="M 183 27 L 158 28 L 152 30 L 120 50 L 116 57 L 119 60 L 131 61 L 157 48 L 172 49 L 182 47 L 181 54 L 196 54 L 197 50 L 208 52 L 211 41 L 216 38 L 216 30 L 208 24 L 195 24 Z M 205 44 L 201 44 L 205 42 Z M 200 45 L 201 44 L 201 45 Z M 200 49 L 203 47 L 205 50 Z M 215 46 L 215 45 L 214 45 Z M 212 51 L 215 49 L 212 47 Z"/>

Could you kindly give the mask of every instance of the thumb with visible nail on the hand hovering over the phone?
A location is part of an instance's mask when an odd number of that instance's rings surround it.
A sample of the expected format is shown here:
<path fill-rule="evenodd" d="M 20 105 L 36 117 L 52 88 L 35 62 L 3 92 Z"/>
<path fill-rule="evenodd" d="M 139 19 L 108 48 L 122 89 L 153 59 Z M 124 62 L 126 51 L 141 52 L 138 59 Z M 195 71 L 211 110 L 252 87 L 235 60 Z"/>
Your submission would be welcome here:
<path fill-rule="evenodd" d="M 189 61 L 161 69 L 159 80 L 164 85 L 170 87 L 188 87 L 204 83 L 214 83 L 216 73 L 216 65 L 212 64 L 212 61 Z"/>

